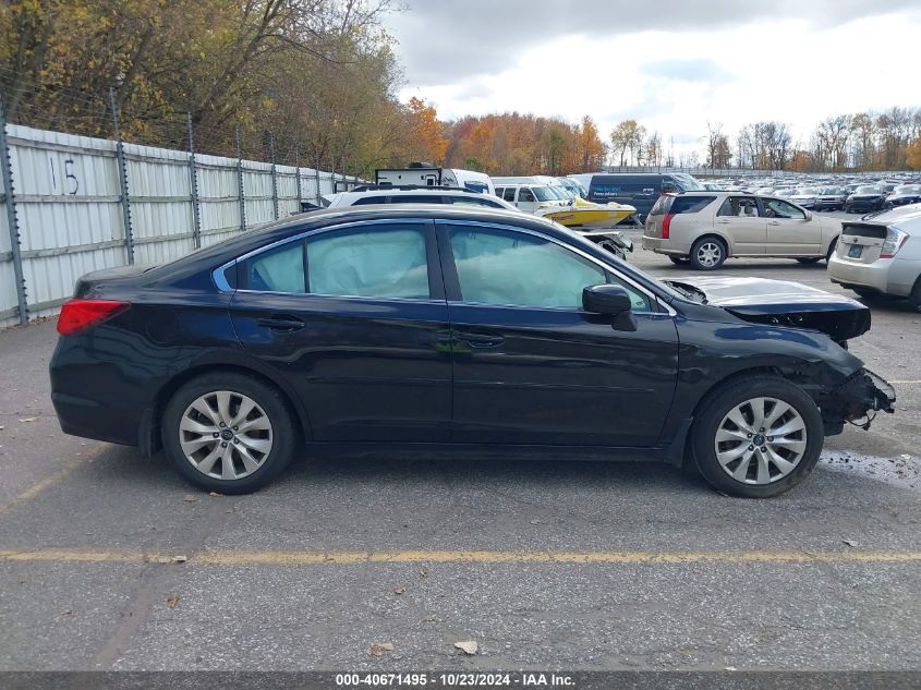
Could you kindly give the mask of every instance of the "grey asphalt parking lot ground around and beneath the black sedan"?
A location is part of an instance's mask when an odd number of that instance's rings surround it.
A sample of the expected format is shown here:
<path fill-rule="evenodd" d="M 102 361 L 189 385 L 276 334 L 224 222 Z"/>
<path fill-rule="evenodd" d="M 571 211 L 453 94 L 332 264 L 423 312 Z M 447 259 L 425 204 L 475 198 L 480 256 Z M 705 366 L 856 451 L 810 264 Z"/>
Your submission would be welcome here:
<path fill-rule="evenodd" d="M 840 291 L 824 263 L 719 273 Z M 870 304 L 851 349 L 897 413 L 762 501 L 665 465 L 306 453 L 209 496 L 61 434 L 54 324 L 2 332 L 0 669 L 921 669 L 921 315 Z"/>

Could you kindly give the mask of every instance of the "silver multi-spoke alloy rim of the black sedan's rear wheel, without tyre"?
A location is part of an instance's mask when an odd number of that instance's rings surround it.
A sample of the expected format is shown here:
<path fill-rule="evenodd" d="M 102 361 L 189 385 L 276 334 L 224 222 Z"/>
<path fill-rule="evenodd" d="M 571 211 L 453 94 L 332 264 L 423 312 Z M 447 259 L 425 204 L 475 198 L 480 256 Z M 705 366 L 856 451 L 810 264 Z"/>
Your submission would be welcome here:
<path fill-rule="evenodd" d="M 196 398 L 182 413 L 179 444 L 202 474 L 240 480 L 257 471 L 271 452 L 271 422 L 252 398 L 216 390 Z"/>

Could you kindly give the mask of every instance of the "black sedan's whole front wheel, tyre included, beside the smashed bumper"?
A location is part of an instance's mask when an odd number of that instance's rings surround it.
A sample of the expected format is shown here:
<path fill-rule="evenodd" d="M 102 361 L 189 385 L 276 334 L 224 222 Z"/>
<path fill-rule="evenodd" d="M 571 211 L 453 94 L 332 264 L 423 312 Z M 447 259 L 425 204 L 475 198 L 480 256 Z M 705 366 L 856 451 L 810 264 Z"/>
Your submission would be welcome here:
<path fill-rule="evenodd" d="M 815 402 L 774 376 L 729 383 L 702 404 L 691 437 L 698 469 L 717 491 L 767 498 L 812 472 L 824 443 Z"/>

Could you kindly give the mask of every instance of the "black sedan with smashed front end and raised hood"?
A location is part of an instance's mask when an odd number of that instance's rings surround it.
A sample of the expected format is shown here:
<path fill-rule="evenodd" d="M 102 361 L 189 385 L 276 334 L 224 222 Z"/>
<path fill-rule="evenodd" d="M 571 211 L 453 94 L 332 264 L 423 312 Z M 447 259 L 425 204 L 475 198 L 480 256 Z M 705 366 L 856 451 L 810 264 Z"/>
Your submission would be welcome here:
<path fill-rule="evenodd" d="M 720 280 L 723 282 L 720 282 Z M 805 477 L 885 382 L 867 307 L 804 286 L 658 282 L 550 221 L 407 205 L 305 214 L 84 276 L 51 361 L 64 432 L 163 447 L 254 491 L 307 453 L 693 459 L 719 491 Z"/>

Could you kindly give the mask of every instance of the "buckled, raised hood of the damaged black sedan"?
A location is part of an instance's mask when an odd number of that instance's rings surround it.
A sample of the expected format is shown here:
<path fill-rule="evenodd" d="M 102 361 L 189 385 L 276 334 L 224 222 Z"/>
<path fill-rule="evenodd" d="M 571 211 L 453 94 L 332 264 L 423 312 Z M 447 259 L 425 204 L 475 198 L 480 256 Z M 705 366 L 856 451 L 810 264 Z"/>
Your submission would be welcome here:
<path fill-rule="evenodd" d="M 687 276 L 670 281 L 703 290 L 707 304 L 756 324 L 819 330 L 838 342 L 870 330 L 867 306 L 801 282 L 718 276 Z"/>

